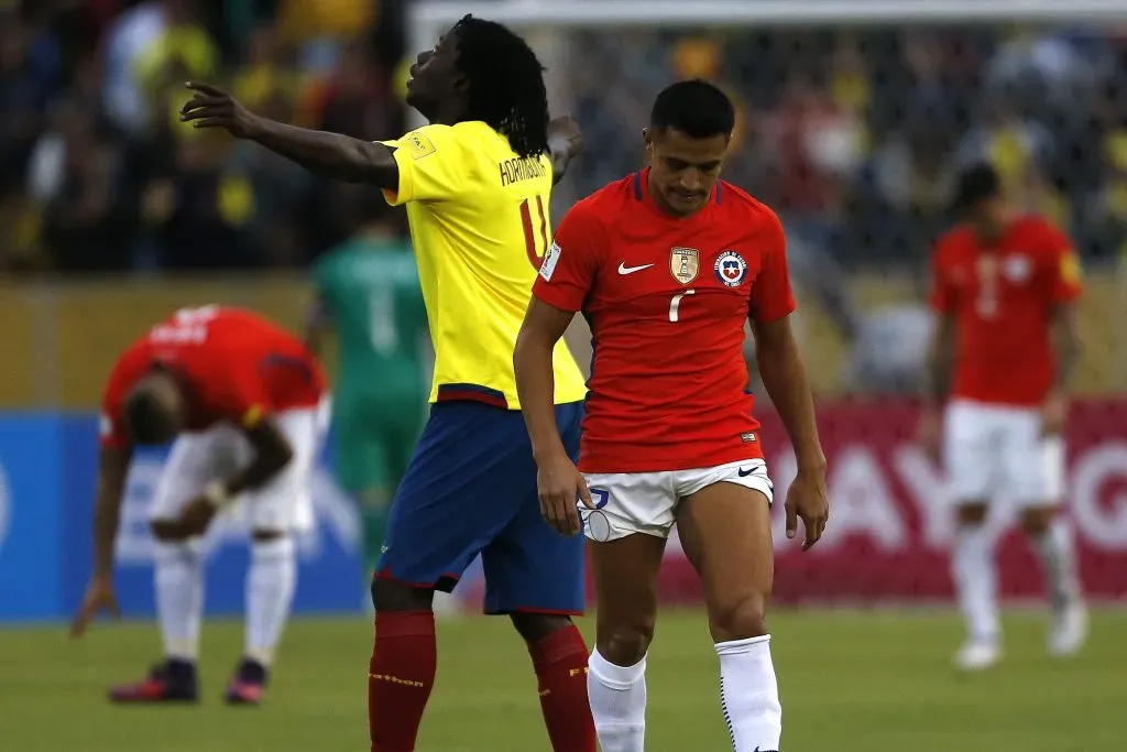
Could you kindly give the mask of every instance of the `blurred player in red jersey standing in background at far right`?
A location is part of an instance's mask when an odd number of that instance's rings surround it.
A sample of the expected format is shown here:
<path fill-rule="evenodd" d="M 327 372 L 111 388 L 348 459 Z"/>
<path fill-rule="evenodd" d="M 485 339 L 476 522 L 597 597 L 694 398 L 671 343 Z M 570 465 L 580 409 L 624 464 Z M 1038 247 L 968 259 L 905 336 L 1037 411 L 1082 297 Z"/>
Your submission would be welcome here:
<path fill-rule="evenodd" d="M 968 639 L 956 663 L 968 670 L 1001 655 L 993 541 L 984 525 L 995 497 L 1018 505 L 1040 555 L 1054 613 L 1049 652 L 1071 655 L 1088 632 L 1072 533 L 1057 514 L 1080 264 L 1068 238 L 1009 205 L 1000 185 L 988 166 L 962 174 L 956 205 L 966 221 L 935 246 L 937 326 L 921 423 L 937 457 L 942 444 L 958 506 L 951 565 Z"/>

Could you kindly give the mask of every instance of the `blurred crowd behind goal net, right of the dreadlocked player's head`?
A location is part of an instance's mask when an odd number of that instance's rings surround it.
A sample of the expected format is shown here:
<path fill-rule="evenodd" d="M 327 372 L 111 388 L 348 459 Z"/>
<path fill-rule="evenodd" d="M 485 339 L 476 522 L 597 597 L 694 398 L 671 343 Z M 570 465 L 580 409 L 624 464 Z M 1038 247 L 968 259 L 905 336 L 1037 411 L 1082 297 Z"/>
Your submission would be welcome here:
<path fill-rule="evenodd" d="M 568 60 L 587 187 L 637 163 L 653 95 L 699 76 L 742 108 L 729 179 L 846 267 L 922 262 L 984 159 L 1090 262 L 1127 239 L 1127 28 L 647 29 L 578 35 Z"/>

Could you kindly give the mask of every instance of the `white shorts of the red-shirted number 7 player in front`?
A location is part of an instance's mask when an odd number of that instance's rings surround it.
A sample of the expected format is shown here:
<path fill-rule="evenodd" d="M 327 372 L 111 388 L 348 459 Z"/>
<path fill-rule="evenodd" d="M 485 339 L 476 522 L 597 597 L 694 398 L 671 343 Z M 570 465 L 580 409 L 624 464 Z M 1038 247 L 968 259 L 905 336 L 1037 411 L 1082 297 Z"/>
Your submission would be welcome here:
<path fill-rule="evenodd" d="M 668 538 L 681 499 L 712 484 L 734 483 L 757 490 L 769 505 L 774 490 L 763 460 L 664 472 L 588 472 L 585 477 L 597 508 L 579 505 L 583 531 L 601 542 L 636 532 Z"/>

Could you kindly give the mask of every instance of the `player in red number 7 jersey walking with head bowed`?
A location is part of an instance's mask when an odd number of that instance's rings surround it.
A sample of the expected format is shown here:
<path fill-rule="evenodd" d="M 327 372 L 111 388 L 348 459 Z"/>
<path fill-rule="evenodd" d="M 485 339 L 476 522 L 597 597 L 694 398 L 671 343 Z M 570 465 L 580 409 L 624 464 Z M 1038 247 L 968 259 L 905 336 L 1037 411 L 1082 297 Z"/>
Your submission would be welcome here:
<path fill-rule="evenodd" d="M 591 543 L 598 617 L 587 690 L 604 752 L 644 749 L 646 653 L 674 523 L 704 587 L 733 746 L 779 749 L 764 621 L 773 485 L 744 390 L 748 319 L 798 459 L 787 534 L 802 517 L 809 548 L 826 524 L 825 458 L 790 329 L 782 227 L 719 180 L 734 118 L 731 101 L 703 81 L 658 95 L 645 132 L 649 167 L 564 218 L 517 337 L 541 510 L 561 533 L 582 527 Z M 595 355 L 577 469 L 557 437 L 551 352 L 578 311 Z"/>

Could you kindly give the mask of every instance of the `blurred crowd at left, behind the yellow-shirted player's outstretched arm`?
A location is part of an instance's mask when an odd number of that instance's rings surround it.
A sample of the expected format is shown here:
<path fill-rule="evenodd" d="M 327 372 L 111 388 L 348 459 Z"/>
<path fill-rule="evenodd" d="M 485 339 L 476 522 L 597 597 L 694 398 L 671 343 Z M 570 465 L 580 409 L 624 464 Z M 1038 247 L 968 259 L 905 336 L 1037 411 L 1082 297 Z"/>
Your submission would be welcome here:
<path fill-rule="evenodd" d="M 178 122 L 184 82 L 365 139 L 403 127 L 402 3 L 0 1 L 0 269 L 301 266 L 366 192 Z"/>

